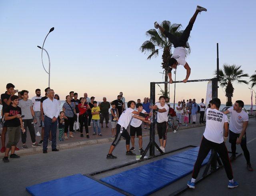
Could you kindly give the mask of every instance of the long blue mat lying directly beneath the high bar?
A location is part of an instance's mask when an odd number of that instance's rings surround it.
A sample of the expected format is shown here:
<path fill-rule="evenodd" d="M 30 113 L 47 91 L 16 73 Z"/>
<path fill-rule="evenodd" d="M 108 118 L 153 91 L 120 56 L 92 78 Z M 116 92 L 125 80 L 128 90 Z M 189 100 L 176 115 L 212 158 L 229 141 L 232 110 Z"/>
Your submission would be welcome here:
<path fill-rule="evenodd" d="M 100 180 L 135 196 L 149 195 L 190 174 L 198 150 L 199 147 L 192 148 Z M 206 164 L 209 158 L 210 154 L 202 165 Z"/>

